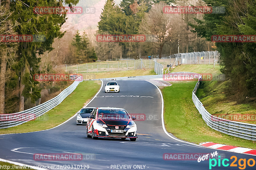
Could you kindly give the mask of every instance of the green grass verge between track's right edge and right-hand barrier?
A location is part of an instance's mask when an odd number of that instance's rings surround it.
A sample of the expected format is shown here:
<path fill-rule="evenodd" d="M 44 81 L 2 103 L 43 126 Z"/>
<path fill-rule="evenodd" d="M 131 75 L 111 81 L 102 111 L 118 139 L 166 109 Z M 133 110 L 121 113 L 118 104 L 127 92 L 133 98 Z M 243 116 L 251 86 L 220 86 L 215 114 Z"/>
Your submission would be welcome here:
<path fill-rule="evenodd" d="M 166 130 L 196 144 L 215 142 L 256 149 L 256 141 L 226 135 L 207 126 L 192 101 L 195 85 L 196 81 L 172 82 L 172 86 L 162 89 Z"/>

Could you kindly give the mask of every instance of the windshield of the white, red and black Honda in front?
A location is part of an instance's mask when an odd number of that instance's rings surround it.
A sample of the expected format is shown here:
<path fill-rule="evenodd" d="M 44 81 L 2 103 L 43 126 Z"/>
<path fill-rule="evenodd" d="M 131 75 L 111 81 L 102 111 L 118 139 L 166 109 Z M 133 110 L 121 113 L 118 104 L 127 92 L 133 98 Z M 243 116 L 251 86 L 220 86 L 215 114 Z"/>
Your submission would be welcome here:
<path fill-rule="evenodd" d="M 129 118 L 128 114 L 124 110 L 116 109 L 100 109 L 98 117 L 103 118 Z"/>

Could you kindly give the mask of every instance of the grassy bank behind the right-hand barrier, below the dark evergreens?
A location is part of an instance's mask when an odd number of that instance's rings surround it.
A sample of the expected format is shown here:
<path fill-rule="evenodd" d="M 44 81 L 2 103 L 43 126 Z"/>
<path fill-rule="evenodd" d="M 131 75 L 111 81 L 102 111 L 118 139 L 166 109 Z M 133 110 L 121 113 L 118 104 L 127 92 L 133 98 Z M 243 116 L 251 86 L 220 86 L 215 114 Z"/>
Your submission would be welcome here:
<path fill-rule="evenodd" d="M 230 91 L 230 81 L 203 82 L 196 95 L 204 103 L 204 107 L 214 116 L 232 121 L 256 124 L 256 103 L 250 99 L 238 101 Z"/>

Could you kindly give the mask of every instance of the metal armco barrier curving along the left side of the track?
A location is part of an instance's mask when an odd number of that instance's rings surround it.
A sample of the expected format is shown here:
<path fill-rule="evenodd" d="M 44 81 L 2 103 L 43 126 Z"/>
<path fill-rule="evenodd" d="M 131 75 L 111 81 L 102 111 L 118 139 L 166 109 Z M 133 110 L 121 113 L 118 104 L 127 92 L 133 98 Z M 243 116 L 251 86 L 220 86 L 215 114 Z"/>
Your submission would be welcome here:
<path fill-rule="evenodd" d="M 70 95 L 76 89 L 77 85 L 82 81 L 83 76 L 78 77 L 70 86 L 60 92 L 58 96 L 33 108 L 18 113 L 1 114 L 0 129 L 17 126 L 30 120 L 34 120 L 36 117 L 43 115 L 47 111 L 60 104 L 68 95 Z"/>

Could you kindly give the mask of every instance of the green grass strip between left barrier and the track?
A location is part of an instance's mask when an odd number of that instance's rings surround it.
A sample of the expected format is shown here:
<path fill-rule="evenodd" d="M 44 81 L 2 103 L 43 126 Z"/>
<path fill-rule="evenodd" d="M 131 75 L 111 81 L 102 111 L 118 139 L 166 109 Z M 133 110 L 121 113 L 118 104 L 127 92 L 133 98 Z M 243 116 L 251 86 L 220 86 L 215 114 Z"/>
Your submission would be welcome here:
<path fill-rule="evenodd" d="M 72 117 L 100 89 L 100 81 L 83 81 L 58 106 L 44 115 L 24 124 L 0 129 L 0 134 L 40 131 L 55 127 Z"/>

